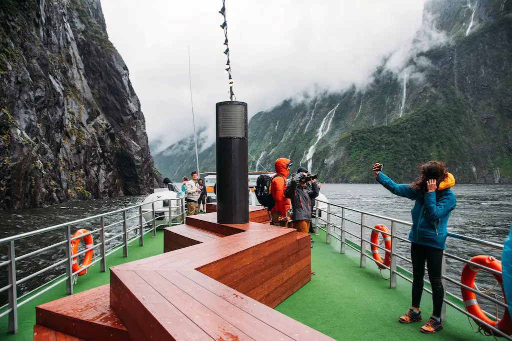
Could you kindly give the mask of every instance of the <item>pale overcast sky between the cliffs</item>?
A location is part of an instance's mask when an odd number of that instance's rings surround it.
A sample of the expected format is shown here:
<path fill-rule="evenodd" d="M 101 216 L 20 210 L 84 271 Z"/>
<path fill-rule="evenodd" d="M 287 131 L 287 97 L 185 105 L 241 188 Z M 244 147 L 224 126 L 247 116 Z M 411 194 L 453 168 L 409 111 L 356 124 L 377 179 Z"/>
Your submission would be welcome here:
<path fill-rule="evenodd" d="M 249 117 L 317 83 L 364 84 L 382 56 L 407 44 L 424 0 L 227 0 L 234 94 Z M 170 145 L 196 127 L 215 133 L 229 100 L 221 0 L 101 0 L 111 41 L 140 99 L 150 141 Z"/>

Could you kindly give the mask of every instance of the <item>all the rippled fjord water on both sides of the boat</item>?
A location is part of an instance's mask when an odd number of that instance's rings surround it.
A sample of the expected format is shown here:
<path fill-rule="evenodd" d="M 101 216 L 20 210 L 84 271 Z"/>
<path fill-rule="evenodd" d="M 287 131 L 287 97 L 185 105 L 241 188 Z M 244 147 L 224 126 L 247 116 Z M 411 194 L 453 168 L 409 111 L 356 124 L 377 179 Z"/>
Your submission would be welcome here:
<path fill-rule="evenodd" d="M 508 234 L 510 222 L 512 221 L 512 185 L 457 185 L 454 187 L 453 191 L 457 197 L 457 209 L 452 213 L 450 218 L 449 231 L 502 244 Z M 325 194 L 332 203 L 400 220 L 411 220 L 410 210 L 413 207 L 414 201 L 397 197 L 378 184 L 325 184 L 322 186 L 321 192 Z M 0 212 L 0 238 L 81 219 L 102 212 L 129 207 L 142 202 L 143 198 L 144 197 L 138 196 L 90 201 L 70 201 L 60 204 L 59 206 L 48 208 Z M 332 212 L 341 216 L 340 209 L 332 208 Z M 127 216 L 134 216 L 137 213 L 138 210 L 133 210 L 133 212 Z M 359 214 L 347 212 L 346 216 L 353 221 L 360 221 Z M 325 219 L 325 213 L 322 217 Z M 383 223 L 391 228 L 391 224 L 388 221 L 371 217 L 367 217 L 366 219 L 367 225 L 373 226 L 377 223 Z M 122 220 L 121 214 L 105 218 L 105 226 L 120 220 Z M 339 218 L 333 216 L 331 221 L 340 225 Z M 128 227 L 135 226 L 137 222 L 138 219 L 129 221 Z M 99 219 L 72 226 L 72 233 L 79 228 L 92 231 L 98 227 Z M 347 229 L 355 235 L 360 235 L 360 226 L 356 224 L 347 223 Z M 118 224 L 108 230 L 106 238 L 111 238 L 121 232 L 122 224 Z M 398 225 L 398 232 L 402 237 L 407 238 L 409 227 Z M 366 233 L 366 238 L 369 239 L 370 231 L 367 230 Z M 357 243 L 359 242 L 349 235 L 347 235 L 347 238 Z M 60 230 L 16 241 L 16 255 L 23 255 L 37 248 L 45 247 L 64 239 L 64 231 Z M 97 236 L 94 239 L 95 243 L 99 242 Z M 114 245 L 120 242 L 122 242 L 122 237 L 110 241 L 109 244 Z M 332 240 L 332 245 L 339 249 L 339 242 L 335 239 Z M 410 258 L 408 243 L 397 242 L 397 248 L 403 256 Z M 475 255 L 489 255 L 501 259 L 501 252 L 495 249 L 455 240 L 453 238 L 448 238 L 446 249 L 447 252 L 464 259 L 470 259 Z M 53 251 L 42 253 L 39 256 L 18 261 L 16 262 L 17 278 L 21 279 L 31 272 L 34 272 L 34 270 L 45 268 L 63 258 L 65 258 L 65 249 L 58 247 Z M 6 259 L 7 245 L 0 245 L 0 261 Z M 371 263 L 371 260 L 368 259 L 367 266 L 374 266 Z M 403 261 L 400 261 L 399 264 L 411 269 L 410 265 Z M 458 261 L 447 259 L 447 274 L 454 279 L 460 279 L 462 266 L 463 264 Z M 33 280 L 19 285 L 18 292 L 27 292 L 37 287 L 38 283 L 46 282 L 63 272 L 65 272 L 63 266 L 45 272 L 45 274 L 41 274 Z M 385 271 L 383 271 L 383 275 L 387 277 L 389 272 L 385 274 Z M 494 280 L 484 274 L 479 274 L 478 279 L 482 279 L 480 284 L 485 287 L 494 284 Z M 6 284 L 7 267 L 4 267 L 0 269 L 0 288 Z M 449 291 L 460 295 L 460 289 L 452 285 L 449 286 Z M 3 305 L 7 302 L 7 295 L 5 292 L 1 295 L 0 305 Z"/>

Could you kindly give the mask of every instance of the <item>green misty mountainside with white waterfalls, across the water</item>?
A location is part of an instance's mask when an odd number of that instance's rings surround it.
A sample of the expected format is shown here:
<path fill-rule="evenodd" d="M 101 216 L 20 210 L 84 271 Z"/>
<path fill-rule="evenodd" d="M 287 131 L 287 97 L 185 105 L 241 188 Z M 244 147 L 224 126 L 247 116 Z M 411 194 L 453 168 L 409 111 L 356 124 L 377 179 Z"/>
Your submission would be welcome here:
<path fill-rule="evenodd" d="M 249 169 L 273 171 L 285 156 L 324 181 L 365 183 L 380 162 L 396 180 L 411 181 L 420 163 L 436 159 L 459 183 L 512 180 L 511 13 L 506 0 L 428 1 L 399 65 L 389 56 L 364 88 L 288 99 L 252 117 Z M 177 158 L 194 168 L 195 158 Z M 215 147 L 199 159 L 202 169 L 215 169 Z M 157 167 L 164 164 L 159 157 Z"/>

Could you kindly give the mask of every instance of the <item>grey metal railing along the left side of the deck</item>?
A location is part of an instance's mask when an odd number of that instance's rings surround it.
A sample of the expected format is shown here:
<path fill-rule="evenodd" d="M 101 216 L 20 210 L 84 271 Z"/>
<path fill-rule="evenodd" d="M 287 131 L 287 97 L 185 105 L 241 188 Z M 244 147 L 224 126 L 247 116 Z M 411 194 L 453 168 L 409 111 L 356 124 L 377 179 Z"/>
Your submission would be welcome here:
<path fill-rule="evenodd" d="M 163 201 L 163 207 L 158 208 L 155 210 L 155 203 Z M 144 206 L 151 205 L 151 209 L 143 209 Z M 137 210 L 138 214 L 134 216 L 127 216 L 127 213 L 132 210 Z M 168 211 L 167 211 L 168 210 Z M 106 225 L 104 224 L 105 217 L 113 216 L 116 214 L 122 214 L 122 220 L 115 221 L 112 224 Z M 166 219 L 165 219 L 166 218 Z M 138 224 L 129 228 L 129 222 L 132 220 L 138 219 Z M 145 220 L 145 223 L 143 223 L 143 219 Z M 99 220 L 99 221 L 98 221 Z M 160 220 L 162 222 L 160 222 Z M 78 225 L 80 223 L 84 222 L 92 222 L 97 221 L 99 224 L 99 228 L 90 231 L 86 234 L 82 234 L 79 237 L 72 237 L 71 235 L 71 226 Z M 157 222 L 159 222 L 157 224 Z M 83 219 L 78 219 L 75 221 L 65 222 L 58 225 L 49 226 L 48 228 L 34 230 L 27 233 L 22 233 L 6 238 L 0 239 L 0 246 L 2 244 L 7 244 L 8 247 L 8 253 L 7 253 L 7 260 L 6 261 L 0 261 L 0 269 L 3 269 L 4 267 L 8 267 L 9 274 L 8 274 L 8 285 L 0 288 L 0 293 L 8 290 L 8 303 L 4 305 L 3 307 L 0 307 L 0 318 L 8 315 L 9 316 L 9 323 L 8 323 L 8 331 L 11 333 L 17 333 L 18 329 L 18 323 L 17 323 L 17 309 L 24 304 L 32 301 L 33 299 L 37 298 L 39 295 L 45 293 L 46 291 L 54 288 L 55 286 L 59 285 L 62 282 L 66 282 L 66 293 L 67 294 L 73 294 L 73 282 L 74 279 L 76 279 L 76 276 L 79 272 L 83 270 L 87 270 L 89 267 L 93 266 L 94 264 L 100 262 L 100 271 L 104 272 L 106 270 L 106 257 L 113 254 L 114 252 L 118 251 L 119 249 L 123 249 L 123 257 L 128 256 L 128 244 L 132 243 L 136 239 L 139 239 L 139 245 L 144 245 L 144 235 L 147 233 L 152 232 L 152 237 L 156 237 L 156 230 L 157 228 L 161 226 L 169 226 L 169 225 L 179 225 L 185 223 L 185 198 L 184 197 L 178 197 L 178 198 L 172 198 L 172 199 L 158 199 L 152 202 L 144 202 L 137 204 L 135 206 L 119 209 L 116 211 L 106 212 L 99 215 L 95 215 L 92 217 L 87 217 Z M 114 226 L 122 225 L 122 232 L 116 234 L 115 236 L 105 239 L 106 231 L 109 229 L 112 229 Z M 146 227 L 146 231 L 144 231 L 144 227 Z M 47 234 L 52 233 L 55 234 L 55 232 L 61 232 L 63 233 L 63 237 L 65 237 L 64 240 L 59 241 L 57 243 L 54 243 L 52 245 L 42 247 L 40 249 L 37 249 L 33 252 L 26 253 L 24 255 L 16 256 L 15 254 L 15 242 L 20 239 L 25 239 L 28 237 L 33 237 L 36 235 L 41 234 Z M 135 232 L 132 237 L 130 237 L 130 233 Z M 90 246 L 89 248 L 83 248 L 79 250 L 76 254 L 72 255 L 71 250 L 71 242 L 76 239 L 80 239 L 87 235 L 93 235 L 93 234 L 99 234 L 99 243 Z M 111 241 L 114 241 L 117 238 L 122 237 L 122 242 L 114 244 L 110 247 L 107 247 L 107 244 Z M 53 250 L 56 247 L 59 247 L 61 245 L 65 245 L 66 249 L 66 255 L 63 259 L 59 260 L 58 262 L 55 262 L 43 269 L 37 270 L 32 272 L 31 274 L 28 274 L 22 279 L 16 278 L 16 262 L 20 260 L 24 260 L 26 258 L 39 255 L 43 252 Z M 99 248 L 99 256 L 96 256 L 91 264 L 87 266 L 81 267 L 79 270 L 73 272 L 73 259 L 77 259 L 78 256 L 85 254 L 86 252 L 90 250 L 94 250 Z M 61 274 L 57 276 L 56 278 L 53 278 L 50 281 L 45 282 L 44 284 L 38 286 L 36 289 L 31 290 L 30 292 L 25 293 L 24 295 L 21 295 L 20 297 L 17 296 L 17 286 L 19 284 L 22 284 L 36 276 L 39 276 L 51 269 L 54 269 L 58 267 L 61 264 L 65 264 L 66 266 L 66 273 Z M 23 300 L 24 299 L 24 300 Z M 23 300 L 23 301 L 22 301 Z"/>

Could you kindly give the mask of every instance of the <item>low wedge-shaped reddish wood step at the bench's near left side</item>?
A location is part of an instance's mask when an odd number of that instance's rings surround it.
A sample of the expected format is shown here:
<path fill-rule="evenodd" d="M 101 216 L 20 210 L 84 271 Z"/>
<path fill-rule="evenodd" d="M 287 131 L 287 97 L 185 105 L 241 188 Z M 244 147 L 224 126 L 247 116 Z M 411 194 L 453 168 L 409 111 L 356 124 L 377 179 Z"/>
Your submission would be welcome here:
<path fill-rule="evenodd" d="M 35 307 L 36 324 L 86 340 L 129 340 L 110 307 L 108 284 Z"/>

